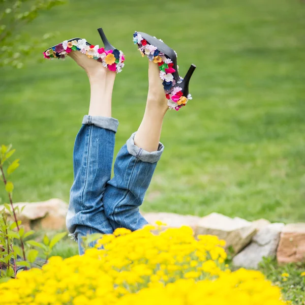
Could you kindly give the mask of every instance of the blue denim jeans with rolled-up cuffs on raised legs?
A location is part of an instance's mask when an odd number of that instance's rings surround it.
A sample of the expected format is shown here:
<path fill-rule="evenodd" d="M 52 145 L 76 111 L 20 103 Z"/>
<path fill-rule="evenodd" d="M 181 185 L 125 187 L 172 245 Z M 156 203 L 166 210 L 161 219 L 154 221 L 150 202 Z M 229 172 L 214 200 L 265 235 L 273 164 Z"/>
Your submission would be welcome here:
<path fill-rule="evenodd" d="M 159 143 L 158 150 L 149 153 L 135 145 L 132 134 L 117 154 L 111 179 L 117 126 L 112 117 L 85 115 L 75 139 L 67 228 L 80 254 L 82 236 L 110 234 L 122 227 L 134 231 L 147 224 L 139 206 L 164 146 Z"/>

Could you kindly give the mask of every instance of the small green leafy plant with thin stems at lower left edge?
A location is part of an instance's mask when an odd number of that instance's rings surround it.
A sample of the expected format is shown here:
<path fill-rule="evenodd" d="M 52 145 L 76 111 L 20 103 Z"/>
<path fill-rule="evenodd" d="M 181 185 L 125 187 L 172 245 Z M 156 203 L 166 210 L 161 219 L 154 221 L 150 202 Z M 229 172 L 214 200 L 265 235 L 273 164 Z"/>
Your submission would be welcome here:
<path fill-rule="evenodd" d="M 0 179 L 3 181 L 8 194 L 9 203 L 4 203 L 0 210 L 0 282 L 16 278 L 20 269 L 39 266 L 48 261 L 55 244 L 62 239 L 66 232 L 56 234 L 51 240 L 47 235 L 43 242 L 28 240 L 35 232 L 25 232 L 17 215 L 22 208 L 13 204 L 14 185 L 10 180 L 12 173 L 19 167 L 19 159 L 11 161 L 15 153 L 12 145 L 0 147 Z M 37 260 L 40 259 L 40 263 Z"/>

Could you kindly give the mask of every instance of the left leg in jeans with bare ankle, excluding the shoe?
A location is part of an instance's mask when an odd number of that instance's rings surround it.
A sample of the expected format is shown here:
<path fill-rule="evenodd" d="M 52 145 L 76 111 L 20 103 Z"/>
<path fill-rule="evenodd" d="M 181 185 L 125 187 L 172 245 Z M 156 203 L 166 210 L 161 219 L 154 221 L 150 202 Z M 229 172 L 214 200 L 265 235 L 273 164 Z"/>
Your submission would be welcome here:
<path fill-rule="evenodd" d="M 68 230 L 78 240 L 82 254 L 81 236 L 113 231 L 105 216 L 102 198 L 106 182 L 111 178 L 118 121 L 111 117 L 115 72 L 80 52 L 70 54 L 87 72 L 91 88 L 89 115 L 84 116 L 75 139 L 74 182 L 67 215 Z"/>

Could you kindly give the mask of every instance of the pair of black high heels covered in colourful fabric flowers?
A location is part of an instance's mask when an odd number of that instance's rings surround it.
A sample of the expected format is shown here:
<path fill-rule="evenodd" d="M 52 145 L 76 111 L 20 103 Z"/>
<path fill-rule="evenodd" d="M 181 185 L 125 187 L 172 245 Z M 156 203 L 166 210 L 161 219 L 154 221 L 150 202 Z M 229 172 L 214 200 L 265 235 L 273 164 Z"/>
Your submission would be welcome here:
<path fill-rule="evenodd" d="M 98 32 L 104 47 L 92 45 L 85 39 L 73 38 L 47 49 L 43 52 L 44 57 L 60 59 L 65 58 L 72 51 L 80 51 L 89 58 L 98 60 L 110 71 L 121 72 L 125 61 L 124 53 L 109 43 L 102 28 L 98 28 Z M 169 109 L 179 110 L 185 106 L 188 100 L 192 99 L 189 94 L 189 83 L 196 66 L 192 64 L 185 78 L 182 78 L 178 73 L 176 52 L 162 40 L 145 33 L 135 32 L 133 41 L 143 57 L 146 55 L 150 61 L 159 65 L 160 78 L 163 81 Z"/>

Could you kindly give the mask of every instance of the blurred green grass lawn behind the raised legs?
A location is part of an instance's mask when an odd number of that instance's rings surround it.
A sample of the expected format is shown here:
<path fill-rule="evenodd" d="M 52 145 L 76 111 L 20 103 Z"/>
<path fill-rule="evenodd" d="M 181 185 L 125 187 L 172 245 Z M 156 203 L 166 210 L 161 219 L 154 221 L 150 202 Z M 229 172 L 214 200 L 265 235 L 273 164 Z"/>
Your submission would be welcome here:
<path fill-rule="evenodd" d="M 144 211 L 304 220 L 305 3 L 74 0 L 27 29 L 37 38 L 60 32 L 50 46 L 73 37 L 101 44 L 100 26 L 126 54 L 113 94 L 120 121 L 115 152 L 137 130 L 145 107 L 148 64 L 133 32 L 173 47 L 182 75 L 190 64 L 198 67 L 193 100 L 167 114 L 166 148 Z M 68 201 L 89 84 L 70 58 L 37 63 L 41 56 L 22 70 L 0 73 L 0 142 L 12 143 L 21 159 L 12 176 L 15 201 Z M 6 200 L 2 190 L 0 197 Z"/>

